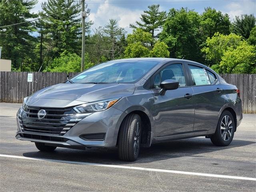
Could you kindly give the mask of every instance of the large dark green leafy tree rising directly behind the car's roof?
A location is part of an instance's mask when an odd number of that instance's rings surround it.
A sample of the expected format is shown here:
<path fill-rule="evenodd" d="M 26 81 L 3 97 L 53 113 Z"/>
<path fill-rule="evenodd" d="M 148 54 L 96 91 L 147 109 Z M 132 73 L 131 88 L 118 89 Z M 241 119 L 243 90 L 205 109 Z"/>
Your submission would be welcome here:
<path fill-rule="evenodd" d="M 160 33 L 160 40 L 169 47 L 170 57 L 198 62 L 203 60 L 199 24 L 200 15 L 197 12 L 187 8 L 170 10 Z"/>

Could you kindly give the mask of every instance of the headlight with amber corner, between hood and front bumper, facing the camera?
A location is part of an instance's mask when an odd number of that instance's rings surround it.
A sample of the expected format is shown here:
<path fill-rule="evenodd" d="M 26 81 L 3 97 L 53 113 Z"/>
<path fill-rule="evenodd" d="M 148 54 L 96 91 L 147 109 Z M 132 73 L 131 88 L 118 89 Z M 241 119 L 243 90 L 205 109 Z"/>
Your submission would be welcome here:
<path fill-rule="evenodd" d="M 92 113 L 97 111 L 104 111 L 113 106 L 116 102 L 118 102 L 119 99 L 120 98 L 115 98 L 111 100 L 102 100 L 98 102 L 86 103 L 74 107 L 74 110 L 78 113 Z"/>

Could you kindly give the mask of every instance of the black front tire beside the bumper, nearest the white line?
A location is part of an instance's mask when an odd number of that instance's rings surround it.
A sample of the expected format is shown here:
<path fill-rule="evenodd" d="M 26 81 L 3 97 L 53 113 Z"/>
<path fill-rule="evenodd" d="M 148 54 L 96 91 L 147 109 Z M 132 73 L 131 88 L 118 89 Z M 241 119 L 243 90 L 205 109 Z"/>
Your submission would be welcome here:
<path fill-rule="evenodd" d="M 141 128 L 142 122 L 138 114 L 128 114 L 128 116 L 124 118 L 118 134 L 118 155 L 120 160 L 135 161 L 138 158 L 140 152 Z M 138 129 L 139 131 L 137 131 Z M 136 145 L 138 145 L 137 150 Z"/>

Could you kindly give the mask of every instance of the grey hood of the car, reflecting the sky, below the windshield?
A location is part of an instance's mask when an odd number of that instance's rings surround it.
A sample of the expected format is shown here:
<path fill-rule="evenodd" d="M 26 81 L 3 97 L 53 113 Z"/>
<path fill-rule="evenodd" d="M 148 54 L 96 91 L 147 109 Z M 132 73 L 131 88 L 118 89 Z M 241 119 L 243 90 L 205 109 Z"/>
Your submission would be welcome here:
<path fill-rule="evenodd" d="M 133 94 L 134 84 L 56 84 L 34 93 L 31 99 L 93 102 Z"/>

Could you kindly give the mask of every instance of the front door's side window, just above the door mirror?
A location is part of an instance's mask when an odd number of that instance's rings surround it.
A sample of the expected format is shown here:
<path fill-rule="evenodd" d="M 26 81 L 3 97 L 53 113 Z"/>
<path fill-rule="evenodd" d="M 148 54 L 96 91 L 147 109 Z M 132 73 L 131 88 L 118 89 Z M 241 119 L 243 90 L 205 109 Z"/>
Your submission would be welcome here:
<path fill-rule="evenodd" d="M 179 82 L 179 86 L 186 86 L 186 79 L 182 64 L 171 64 L 154 76 L 154 88 L 160 88 L 160 82 L 172 79 Z"/>

